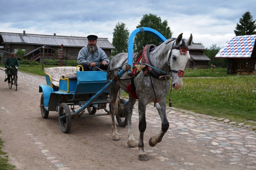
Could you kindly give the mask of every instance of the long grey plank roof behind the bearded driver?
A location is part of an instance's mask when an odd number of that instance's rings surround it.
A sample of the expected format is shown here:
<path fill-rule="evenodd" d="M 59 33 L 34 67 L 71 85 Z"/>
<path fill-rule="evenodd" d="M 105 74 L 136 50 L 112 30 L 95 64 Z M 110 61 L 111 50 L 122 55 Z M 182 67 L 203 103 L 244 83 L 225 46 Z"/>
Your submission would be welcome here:
<path fill-rule="evenodd" d="M 27 33 L 3 33 L 0 32 L 2 37 L 2 44 L 4 43 L 19 43 L 19 44 L 36 44 L 48 46 L 64 47 L 85 47 L 88 44 L 87 37 L 69 37 L 57 35 L 40 35 L 40 34 L 27 34 Z M 116 49 L 109 41 L 108 38 L 98 38 L 97 46 L 105 49 Z"/>

